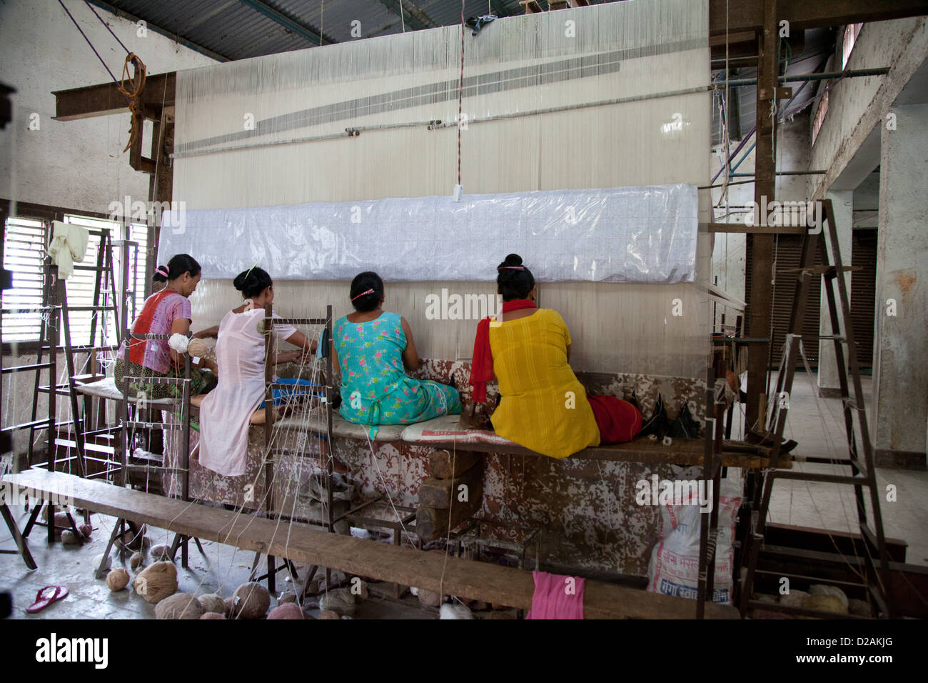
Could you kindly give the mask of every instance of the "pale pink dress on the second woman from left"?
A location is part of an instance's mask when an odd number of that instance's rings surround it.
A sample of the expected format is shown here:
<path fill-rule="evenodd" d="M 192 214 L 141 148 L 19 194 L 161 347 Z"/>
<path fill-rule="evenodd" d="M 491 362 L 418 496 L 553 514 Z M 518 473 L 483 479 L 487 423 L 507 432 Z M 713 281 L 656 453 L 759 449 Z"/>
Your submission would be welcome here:
<path fill-rule="evenodd" d="M 279 318 L 279 316 L 275 316 Z M 229 311 L 219 323 L 219 384 L 200 404 L 200 465 L 226 477 L 245 474 L 248 427 L 264 401 L 264 309 Z M 277 340 L 296 332 L 274 325 Z"/>

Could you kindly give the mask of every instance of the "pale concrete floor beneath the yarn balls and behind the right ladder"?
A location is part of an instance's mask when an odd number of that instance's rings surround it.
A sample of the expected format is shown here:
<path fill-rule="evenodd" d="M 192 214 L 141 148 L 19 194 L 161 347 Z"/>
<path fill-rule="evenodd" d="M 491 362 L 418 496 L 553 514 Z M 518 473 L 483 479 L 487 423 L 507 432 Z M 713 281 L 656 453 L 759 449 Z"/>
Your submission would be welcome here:
<path fill-rule="evenodd" d="M 813 375 L 812 379 L 815 377 Z M 865 392 L 870 394 L 870 377 L 864 378 Z M 870 403 L 869 403 L 870 404 Z M 844 420 L 841 401 L 817 399 L 806 374 L 797 373 L 793 383 L 791 410 L 787 435 L 799 441 L 795 453 L 805 455 L 827 455 L 845 457 Z M 735 431 L 738 430 L 736 424 Z M 796 464 L 796 469 L 817 472 L 841 472 L 844 468 L 816 464 Z M 912 564 L 928 565 L 928 472 L 899 469 L 878 469 L 883 525 L 888 537 L 899 538 L 909 543 L 907 561 Z M 885 487 L 896 486 L 896 502 L 886 501 Z M 868 506 L 869 507 L 869 506 Z M 13 508 L 19 519 L 20 528 L 28 514 L 22 507 Z M 839 484 L 819 484 L 806 481 L 780 480 L 774 488 L 770 509 L 773 521 L 800 526 L 855 531 L 856 512 L 853 487 Z M 112 530 L 113 518 L 93 515 L 94 534 L 90 543 L 81 546 L 48 545 L 45 529 L 32 532 L 30 548 L 39 565 L 36 571 L 28 571 L 18 555 L 0 555 L 0 590 L 11 590 L 14 596 L 14 618 L 58 618 L 58 619 L 150 619 L 154 618 L 154 606 L 130 589 L 111 593 L 102 580 L 93 578 L 94 558 L 106 546 Z M 170 543 L 172 534 L 163 530 L 149 530 L 151 543 Z M 248 579 L 253 553 L 237 550 L 227 545 L 204 542 L 206 557 L 200 555 L 196 546 L 190 545 L 189 569 L 180 568 L 178 575 L 180 590 L 203 595 L 219 593 L 231 596 L 238 586 Z M 0 547 L 13 547 L 6 526 L 0 526 Z M 119 558 L 113 551 L 113 566 L 119 566 Z M 128 558 L 122 560 L 127 567 Z M 306 571 L 298 566 L 299 575 Z M 131 572 L 130 572 L 131 573 Z M 285 580 L 286 574 L 278 574 L 278 593 L 291 587 Z M 35 615 L 25 612 L 39 588 L 49 584 L 66 584 L 71 591 L 68 598 L 61 600 L 45 611 Z M 383 584 L 385 585 L 385 584 Z M 371 584 L 372 597 L 362 602 L 355 618 L 373 619 L 434 619 L 437 611 L 419 607 L 417 598 L 406 595 L 401 603 L 377 597 L 378 584 Z M 276 604 L 272 601 L 272 607 Z M 316 611 L 310 611 L 315 615 Z M 487 613 L 475 616 L 485 618 Z"/>

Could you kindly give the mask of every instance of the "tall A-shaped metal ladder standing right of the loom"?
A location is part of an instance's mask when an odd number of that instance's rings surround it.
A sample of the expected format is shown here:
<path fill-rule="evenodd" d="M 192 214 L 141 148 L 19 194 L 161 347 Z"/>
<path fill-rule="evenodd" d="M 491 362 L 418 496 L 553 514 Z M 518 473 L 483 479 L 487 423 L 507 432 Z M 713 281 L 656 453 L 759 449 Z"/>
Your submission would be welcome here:
<path fill-rule="evenodd" d="M 742 566 L 741 582 L 741 614 L 757 608 L 763 610 L 786 611 L 803 616 L 813 616 L 820 618 L 848 618 L 845 614 L 836 614 L 828 611 L 809 610 L 806 608 L 789 607 L 785 605 L 771 605 L 767 602 L 754 600 L 754 580 L 757 573 L 758 558 L 764 546 L 764 532 L 767 526 L 767 512 L 770 506 L 770 496 L 773 491 L 773 484 L 777 479 L 792 479 L 805 481 L 818 481 L 824 483 L 849 484 L 854 486 L 855 500 L 857 502 L 857 522 L 860 530 L 860 546 L 863 548 L 863 558 L 865 561 L 866 574 L 864 583 L 853 584 L 865 589 L 870 598 L 871 605 L 876 608 L 877 614 L 884 618 L 893 616 L 892 599 L 890 596 L 890 578 L 889 578 L 889 557 L 886 549 L 886 539 L 883 534 L 883 518 L 880 514 L 880 495 L 877 491 L 876 470 L 873 458 L 873 445 L 870 440 L 870 430 L 867 424 L 867 414 L 864 407 L 863 389 L 860 383 L 860 369 L 857 365 L 857 350 L 854 339 L 854 327 L 851 322 L 850 303 L 847 296 L 847 283 L 844 281 L 843 274 L 850 270 L 844 267 L 841 260 L 840 249 L 838 248 L 838 235 L 834 221 L 834 210 L 831 200 L 822 201 L 822 215 L 824 217 L 823 225 L 816 233 L 806 232 L 803 235 L 802 256 L 795 282 L 793 294 L 793 313 L 790 317 L 790 326 L 786 335 L 786 342 L 783 349 L 782 360 L 780 361 L 780 372 L 777 377 L 777 386 L 774 392 L 768 397 L 768 420 L 767 431 L 773 435 L 773 449 L 770 454 L 770 468 L 763 474 L 763 494 L 760 498 L 759 505 L 757 493 L 759 487 L 755 488 L 752 511 L 750 520 L 750 529 L 746 535 L 746 545 L 742 555 L 742 565 L 746 562 L 746 567 Z M 833 254 L 833 263 L 829 263 L 828 246 L 825 241 L 825 224 L 828 226 L 828 241 L 831 243 L 831 252 Z M 815 265 L 815 258 L 818 250 L 821 250 L 822 265 Z M 841 387 L 841 400 L 844 409 L 844 430 L 847 440 L 848 456 L 846 458 L 810 458 L 811 462 L 829 463 L 832 465 L 850 467 L 851 474 L 827 474 L 814 472 L 799 472 L 792 469 L 778 469 L 780 460 L 780 443 L 782 442 L 783 428 L 786 425 L 786 417 L 789 414 L 789 398 L 793 390 L 793 374 L 795 373 L 796 363 L 800 361 L 805 354 L 802 351 L 802 328 L 806 318 L 806 305 L 808 303 L 809 291 L 813 277 L 818 275 L 824 276 L 822 286 L 828 299 L 829 316 L 831 320 L 831 338 L 834 343 L 834 354 L 838 366 L 838 377 Z M 835 295 L 837 289 L 837 298 Z M 841 314 L 836 306 L 836 302 L 841 304 Z M 839 324 L 840 323 L 840 324 Z M 843 333 L 843 334 L 842 334 Z M 844 345 L 847 346 L 847 361 L 844 358 Z M 850 394 L 847 375 L 851 375 L 853 382 L 854 394 Z M 855 427 L 857 424 L 857 427 Z M 860 443 L 857 442 L 856 428 L 860 432 Z M 861 460 L 859 448 L 863 449 L 863 459 Z M 867 519 L 867 509 L 865 506 L 864 489 L 870 492 L 870 506 L 873 515 L 873 527 Z M 779 548 L 779 554 L 791 555 L 789 548 Z M 800 553 L 792 553 L 794 557 L 802 557 Z M 787 572 L 778 572 L 786 577 L 798 577 L 797 574 Z M 808 576 L 802 576 L 808 579 Z M 821 583 L 832 583 L 827 579 L 822 579 Z"/>

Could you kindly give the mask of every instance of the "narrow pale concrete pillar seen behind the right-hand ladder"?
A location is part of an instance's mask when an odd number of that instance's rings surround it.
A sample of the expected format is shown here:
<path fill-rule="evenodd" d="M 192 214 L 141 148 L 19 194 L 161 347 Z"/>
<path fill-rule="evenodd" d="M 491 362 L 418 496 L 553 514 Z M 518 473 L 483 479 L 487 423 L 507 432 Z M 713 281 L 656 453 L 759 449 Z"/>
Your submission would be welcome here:
<path fill-rule="evenodd" d="M 826 199 L 831 200 L 831 206 L 834 207 L 834 223 L 838 233 L 838 248 L 841 250 L 841 261 L 844 266 L 851 265 L 851 233 L 854 223 L 854 191 L 841 190 L 830 191 L 825 194 Z M 825 243 L 828 246 L 829 262 L 834 263 L 834 252 L 832 251 L 831 240 L 828 237 L 828 229 L 825 228 Z M 851 273 L 844 273 L 844 282 L 847 285 L 847 296 L 851 296 Z M 838 300 L 837 283 L 834 285 L 835 303 L 838 305 L 838 320 L 843 320 L 841 311 L 841 301 Z M 854 302 L 850 302 L 854 306 Z M 844 330 L 841 331 L 842 334 Z M 819 335 L 831 335 L 831 318 L 828 312 L 828 299 L 825 296 L 825 278 L 821 282 L 821 308 L 818 322 Z M 844 347 L 844 362 L 847 362 L 847 347 Z M 834 356 L 834 342 L 831 339 L 823 339 L 818 342 L 818 390 L 822 396 L 841 396 L 841 385 L 839 384 L 838 365 Z"/>

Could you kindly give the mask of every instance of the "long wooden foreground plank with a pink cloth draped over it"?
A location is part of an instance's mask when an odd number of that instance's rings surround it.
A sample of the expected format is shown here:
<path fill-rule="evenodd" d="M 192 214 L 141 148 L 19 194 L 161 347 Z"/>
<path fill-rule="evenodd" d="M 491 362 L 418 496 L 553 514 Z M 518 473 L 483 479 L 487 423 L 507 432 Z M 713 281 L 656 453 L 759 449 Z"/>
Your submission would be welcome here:
<path fill-rule="evenodd" d="M 297 524 L 278 525 L 275 519 L 239 515 L 231 510 L 185 503 L 44 469 L 7 474 L 0 479 L 39 492 L 67 492 L 78 507 L 244 550 L 380 581 L 444 591 L 459 598 L 523 610 L 532 607 L 535 581 L 531 571 L 445 558 L 437 553 L 320 532 Z M 589 619 L 691 619 L 695 605 L 685 598 L 588 581 L 585 611 Z M 713 604 L 706 605 L 706 617 L 737 619 L 739 615 L 732 607 Z"/>

